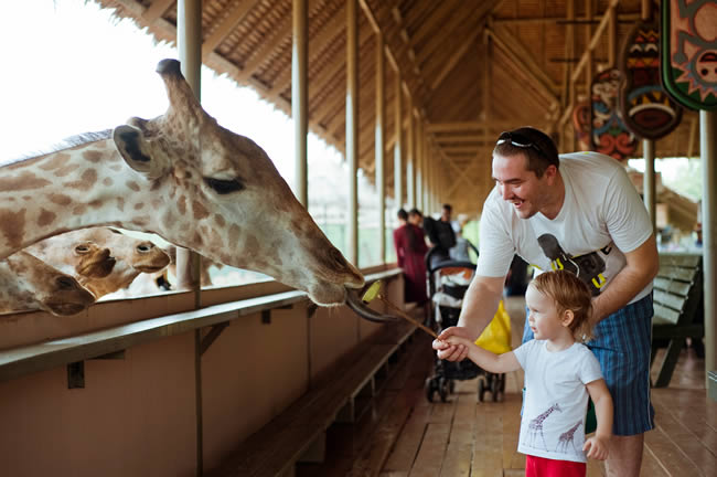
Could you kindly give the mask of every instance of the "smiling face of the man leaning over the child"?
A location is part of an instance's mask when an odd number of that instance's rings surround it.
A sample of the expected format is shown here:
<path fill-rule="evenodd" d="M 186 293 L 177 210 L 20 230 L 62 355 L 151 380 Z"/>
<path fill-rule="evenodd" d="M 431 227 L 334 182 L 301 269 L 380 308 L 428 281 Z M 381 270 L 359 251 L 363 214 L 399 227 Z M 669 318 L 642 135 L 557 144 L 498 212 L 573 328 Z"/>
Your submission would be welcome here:
<path fill-rule="evenodd" d="M 555 166 L 548 166 L 538 178 L 535 172 L 527 170 L 527 158 L 524 153 L 515 156 L 493 156 L 493 180 L 501 198 L 513 204 L 521 219 L 529 219 L 537 212 L 553 215 L 555 204 L 555 186 L 558 171 Z M 561 205 L 561 203 L 560 203 Z M 559 211 L 559 205 L 557 208 Z"/>

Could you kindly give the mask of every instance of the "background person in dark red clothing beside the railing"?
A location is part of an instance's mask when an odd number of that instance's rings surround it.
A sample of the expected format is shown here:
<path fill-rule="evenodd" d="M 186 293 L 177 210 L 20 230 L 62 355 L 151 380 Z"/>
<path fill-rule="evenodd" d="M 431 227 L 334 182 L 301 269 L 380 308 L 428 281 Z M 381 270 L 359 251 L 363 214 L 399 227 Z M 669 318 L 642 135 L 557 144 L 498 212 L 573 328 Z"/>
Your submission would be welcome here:
<path fill-rule="evenodd" d="M 425 305 L 428 300 L 426 293 L 426 262 L 425 256 L 428 252 L 424 231 L 419 226 L 422 214 L 414 209 L 410 213 L 405 210 L 398 211 L 399 222 L 404 223 L 394 231 L 394 246 L 396 247 L 396 257 L 398 266 L 404 269 L 405 279 L 405 301 L 415 301 Z"/>

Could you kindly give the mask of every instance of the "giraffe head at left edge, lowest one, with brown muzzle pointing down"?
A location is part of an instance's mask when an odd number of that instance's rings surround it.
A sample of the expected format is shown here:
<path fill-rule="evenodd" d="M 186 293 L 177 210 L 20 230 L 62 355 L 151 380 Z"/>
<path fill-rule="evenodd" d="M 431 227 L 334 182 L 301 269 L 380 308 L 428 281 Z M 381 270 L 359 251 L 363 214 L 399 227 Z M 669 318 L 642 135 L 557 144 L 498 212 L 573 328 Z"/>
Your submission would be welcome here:
<path fill-rule="evenodd" d="M 95 297 L 75 278 L 26 252 L 0 261 L 0 312 L 42 309 L 57 316 L 76 315 Z"/>

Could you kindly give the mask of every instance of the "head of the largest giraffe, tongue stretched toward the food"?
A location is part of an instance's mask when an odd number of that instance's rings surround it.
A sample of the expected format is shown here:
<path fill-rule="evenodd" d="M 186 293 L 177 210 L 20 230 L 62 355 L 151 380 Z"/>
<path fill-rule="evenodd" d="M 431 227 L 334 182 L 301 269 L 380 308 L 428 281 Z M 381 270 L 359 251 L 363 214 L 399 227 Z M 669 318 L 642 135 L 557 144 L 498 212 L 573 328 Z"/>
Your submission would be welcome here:
<path fill-rule="evenodd" d="M 321 232 L 267 153 L 201 107 L 178 61 L 163 60 L 157 71 L 169 96 L 167 113 L 130 118 L 113 131 L 127 165 L 149 182 L 159 215 L 151 231 L 306 290 L 319 305 L 349 298 L 367 310 L 364 317 L 381 319 L 357 299 L 362 274 Z"/>

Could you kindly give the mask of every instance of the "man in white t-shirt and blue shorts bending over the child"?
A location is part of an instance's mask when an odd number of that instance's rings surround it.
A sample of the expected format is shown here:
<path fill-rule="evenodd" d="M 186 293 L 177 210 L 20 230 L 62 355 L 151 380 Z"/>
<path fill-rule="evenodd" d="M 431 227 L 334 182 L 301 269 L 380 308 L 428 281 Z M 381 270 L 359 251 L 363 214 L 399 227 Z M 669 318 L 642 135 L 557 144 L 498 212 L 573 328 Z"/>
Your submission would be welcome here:
<path fill-rule="evenodd" d="M 477 274 L 457 335 L 474 340 L 493 318 L 514 254 L 539 271 L 563 268 L 593 294 L 596 339 L 614 401 L 608 475 L 638 476 L 644 432 L 654 427 L 650 403 L 652 279 L 657 248 L 648 212 L 624 168 L 597 152 L 558 158 L 548 136 L 524 127 L 503 132 L 493 150 L 496 187 L 481 218 Z M 533 338 L 525 326 L 524 341 Z M 438 357 L 465 358 L 464 347 L 435 341 Z"/>

